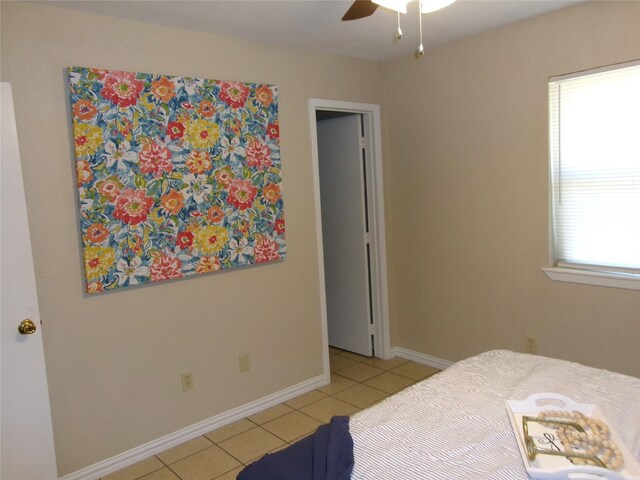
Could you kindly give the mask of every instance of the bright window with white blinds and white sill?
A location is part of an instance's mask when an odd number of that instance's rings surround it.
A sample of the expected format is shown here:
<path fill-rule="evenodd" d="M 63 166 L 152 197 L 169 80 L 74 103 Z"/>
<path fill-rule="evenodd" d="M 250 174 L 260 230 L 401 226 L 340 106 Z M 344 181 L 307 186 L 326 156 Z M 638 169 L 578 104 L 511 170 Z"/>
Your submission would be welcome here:
<path fill-rule="evenodd" d="M 640 61 L 551 78 L 549 139 L 560 268 L 545 271 L 640 289 Z"/>

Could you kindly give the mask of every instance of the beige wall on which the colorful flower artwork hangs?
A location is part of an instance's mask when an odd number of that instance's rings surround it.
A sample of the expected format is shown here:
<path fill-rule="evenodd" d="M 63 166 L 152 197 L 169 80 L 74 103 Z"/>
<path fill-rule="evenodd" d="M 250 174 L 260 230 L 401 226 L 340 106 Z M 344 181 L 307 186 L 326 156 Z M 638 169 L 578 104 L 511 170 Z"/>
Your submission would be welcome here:
<path fill-rule="evenodd" d="M 2 1 L 60 475 L 322 373 L 310 97 L 382 102 L 382 67 Z M 286 260 L 83 296 L 66 68 L 279 87 Z M 240 374 L 238 356 L 251 355 Z M 180 373 L 196 388 L 183 393 Z"/>

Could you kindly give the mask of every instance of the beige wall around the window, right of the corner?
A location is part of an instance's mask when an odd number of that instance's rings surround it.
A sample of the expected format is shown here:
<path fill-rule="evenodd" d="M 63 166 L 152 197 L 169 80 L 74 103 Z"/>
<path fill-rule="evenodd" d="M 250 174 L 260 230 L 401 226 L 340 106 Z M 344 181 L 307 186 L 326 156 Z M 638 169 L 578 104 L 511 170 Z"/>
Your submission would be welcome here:
<path fill-rule="evenodd" d="M 385 68 L 393 344 L 640 375 L 640 292 L 553 282 L 547 78 L 640 58 L 640 2 L 587 3 Z"/>

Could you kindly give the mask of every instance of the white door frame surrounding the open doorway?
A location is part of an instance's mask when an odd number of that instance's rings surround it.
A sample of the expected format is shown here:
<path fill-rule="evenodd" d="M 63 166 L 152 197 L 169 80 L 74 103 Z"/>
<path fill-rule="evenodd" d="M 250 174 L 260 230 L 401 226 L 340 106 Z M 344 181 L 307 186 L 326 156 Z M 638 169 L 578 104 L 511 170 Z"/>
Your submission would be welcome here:
<path fill-rule="evenodd" d="M 343 102 L 319 98 L 309 99 L 309 127 L 311 132 L 311 155 L 313 165 L 313 194 L 316 211 L 316 243 L 318 250 L 318 274 L 320 288 L 320 312 L 322 317 L 322 341 L 324 348 L 324 368 L 328 376 L 329 367 L 329 333 L 327 323 L 327 295 L 324 275 L 324 244 L 322 240 L 322 209 L 320 202 L 320 165 L 318 163 L 318 132 L 316 128 L 316 111 L 327 110 L 348 112 L 363 115 L 364 128 L 370 139 L 366 157 L 371 191 L 369 222 L 371 235 L 371 296 L 373 312 L 373 334 L 375 355 L 389 358 L 391 343 L 389 338 L 389 293 L 387 284 L 387 256 L 384 218 L 384 183 L 382 167 L 382 133 L 380 106 L 370 103 Z"/>

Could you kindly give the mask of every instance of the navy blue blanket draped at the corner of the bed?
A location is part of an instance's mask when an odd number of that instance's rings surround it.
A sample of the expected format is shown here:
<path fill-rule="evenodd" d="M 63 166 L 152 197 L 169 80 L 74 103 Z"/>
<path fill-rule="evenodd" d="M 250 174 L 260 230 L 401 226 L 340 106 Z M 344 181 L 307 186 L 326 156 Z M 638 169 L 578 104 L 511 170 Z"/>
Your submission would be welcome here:
<path fill-rule="evenodd" d="M 333 417 L 314 434 L 248 465 L 236 480 L 349 480 L 352 470 L 349 417 Z"/>

